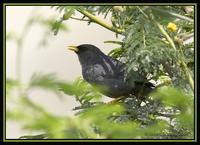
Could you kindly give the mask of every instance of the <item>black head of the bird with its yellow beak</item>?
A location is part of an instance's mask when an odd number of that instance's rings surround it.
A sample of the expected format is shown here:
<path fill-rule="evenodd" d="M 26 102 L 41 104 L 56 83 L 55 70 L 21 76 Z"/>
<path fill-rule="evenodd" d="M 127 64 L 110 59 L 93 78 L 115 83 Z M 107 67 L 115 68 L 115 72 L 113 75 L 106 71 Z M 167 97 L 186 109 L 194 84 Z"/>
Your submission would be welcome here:
<path fill-rule="evenodd" d="M 74 51 L 79 58 L 81 65 L 92 65 L 101 61 L 105 54 L 94 45 L 82 44 L 79 46 L 68 46 L 68 49 Z"/>

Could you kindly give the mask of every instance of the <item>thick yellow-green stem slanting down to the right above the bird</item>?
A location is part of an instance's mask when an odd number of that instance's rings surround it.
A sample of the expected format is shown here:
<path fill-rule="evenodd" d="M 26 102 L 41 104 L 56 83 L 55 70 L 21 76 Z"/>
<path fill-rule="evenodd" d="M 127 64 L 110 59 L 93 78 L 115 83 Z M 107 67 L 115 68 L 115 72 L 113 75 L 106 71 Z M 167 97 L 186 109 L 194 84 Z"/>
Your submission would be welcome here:
<path fill-rule="evenodd" d="M 90 12 L 88 12 L 86 10 L 77 9 L 77 11 L 79 11 L 83 15 L 87 16 L 92 22 L 95 22 L 95 23 L 103 26 L 104 28 L 107 28 L 108 30 L 111 30 L 111 31 L 116 32 L 118 34 L 122 34 L 124 32 L 123 30 L 118 29 L 118 28 L 114 28 L 112 25 L 107 24 L 106 22 L 100 20 L 99 18 L 97 18 L 96 16 L 94 16 L 93 14 L 91 14 Z"/>

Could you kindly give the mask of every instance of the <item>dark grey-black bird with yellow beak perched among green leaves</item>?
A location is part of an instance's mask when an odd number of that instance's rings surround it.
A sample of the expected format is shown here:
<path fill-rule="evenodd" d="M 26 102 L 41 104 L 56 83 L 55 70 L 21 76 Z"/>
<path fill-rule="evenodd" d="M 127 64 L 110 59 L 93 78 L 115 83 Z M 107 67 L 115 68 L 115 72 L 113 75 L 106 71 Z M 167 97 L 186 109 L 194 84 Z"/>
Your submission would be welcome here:
<path fill-rule="evenodd" d="M 131 79 L 131 75 L 125 72 L 124 63 L 104 54 L 92 44 L 71 45 L 68 49 L 78 55 L 83 79 L 91 85 L 102 88 L 100 91 L 105 96 L 110 98 L 146 96 L 155 87 L 142 77 Z M 137 72 L 133 72 L 132 76 L 136 76 L 135 74 L 139 76 Z"/>

